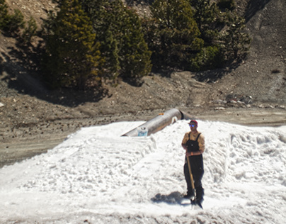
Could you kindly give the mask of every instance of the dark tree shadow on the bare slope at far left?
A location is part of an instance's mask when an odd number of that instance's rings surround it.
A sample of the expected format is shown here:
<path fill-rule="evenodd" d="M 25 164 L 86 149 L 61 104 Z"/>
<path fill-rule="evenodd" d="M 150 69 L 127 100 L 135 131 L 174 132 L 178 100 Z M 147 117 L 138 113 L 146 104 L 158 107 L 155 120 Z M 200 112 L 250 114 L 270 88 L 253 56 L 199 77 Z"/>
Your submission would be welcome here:
<path fill-rule="evenodd" d="M 8 88 L 15 89 L 18 94 L 35 96 L 38 99 L 62 106 L 76 107 L 85 102 L 97 102 L 108 95 L 108 90 L 102 86 L 92 86 L 85 90 L 62 88 L 52 90 L 43 82 L 40 70 L 40 55 L 42 43 L 37 46 L 23 44 L 17 39 L 13 47 L 8 47 L 8 52 L 1 53 L 0 72 L 1 82 L 6 82 Z"/>

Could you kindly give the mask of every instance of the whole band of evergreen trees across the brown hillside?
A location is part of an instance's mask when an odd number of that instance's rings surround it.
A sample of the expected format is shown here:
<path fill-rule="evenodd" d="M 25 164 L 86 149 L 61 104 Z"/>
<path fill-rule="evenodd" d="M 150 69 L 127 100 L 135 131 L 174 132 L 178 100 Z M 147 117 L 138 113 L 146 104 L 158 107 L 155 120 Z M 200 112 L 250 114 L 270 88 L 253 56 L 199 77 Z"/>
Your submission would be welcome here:
<path fill-rule="evenodd" d="M 24 45 L 42 39 L 41 78 L 51 89 L 138 85 L 151 71 L 223 68 L 245 57 L 251 42 L 234 0 L 154 0 L 148 17 L 121 0 L 53 1 L 38 28 L 0 0 L 4 34 Z"/>

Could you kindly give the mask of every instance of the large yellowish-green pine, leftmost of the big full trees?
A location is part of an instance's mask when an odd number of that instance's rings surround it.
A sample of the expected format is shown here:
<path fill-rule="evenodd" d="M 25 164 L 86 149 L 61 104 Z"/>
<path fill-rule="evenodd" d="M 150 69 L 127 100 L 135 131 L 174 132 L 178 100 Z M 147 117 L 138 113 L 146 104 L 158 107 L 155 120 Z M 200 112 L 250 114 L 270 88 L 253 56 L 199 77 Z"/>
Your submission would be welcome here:
<path fill-rule="evenodd" d="M 45 23 L 44 67 L 50 86 L 86 87 L 96 80 L 101 54 L 91 21 L 78 0 L 63 0 Z"/>

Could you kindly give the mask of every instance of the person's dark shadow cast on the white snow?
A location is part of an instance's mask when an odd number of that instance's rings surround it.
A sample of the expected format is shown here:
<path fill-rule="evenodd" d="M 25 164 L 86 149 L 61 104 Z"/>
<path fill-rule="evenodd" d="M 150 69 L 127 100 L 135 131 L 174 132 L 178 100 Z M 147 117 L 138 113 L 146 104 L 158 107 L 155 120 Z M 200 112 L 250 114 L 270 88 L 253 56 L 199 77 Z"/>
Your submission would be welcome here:
<path fill-rule="evenodd" d="M 164 194 L 156 194 L 154 198 L 151 198 L 151 201 L 155 203 L 168 203 L 168 204 L 179 204 L 181 206 L 190 205 L 189 203 L 184 203 L 183 194 L 178 191 L 174 191 L 171 194 L 164 195 Z M 189 201 L 189 200 L 187 200 Z"/>

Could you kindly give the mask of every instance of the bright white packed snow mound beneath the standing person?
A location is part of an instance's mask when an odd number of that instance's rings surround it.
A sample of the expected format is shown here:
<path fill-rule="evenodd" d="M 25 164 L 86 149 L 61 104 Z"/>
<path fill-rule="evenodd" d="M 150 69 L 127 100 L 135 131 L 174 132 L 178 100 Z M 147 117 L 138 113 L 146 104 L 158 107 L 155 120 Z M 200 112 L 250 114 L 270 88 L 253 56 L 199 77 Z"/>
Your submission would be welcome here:
<path fill-rule="evenodd" d="M 286 126 L 198 122 L 203 210 L 180 199 L 187 121 L 149 137 L 120 122 L 0 169 L 0 223 L 286 223 Z"/>

